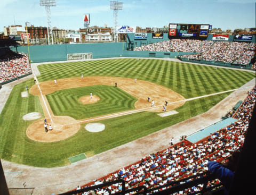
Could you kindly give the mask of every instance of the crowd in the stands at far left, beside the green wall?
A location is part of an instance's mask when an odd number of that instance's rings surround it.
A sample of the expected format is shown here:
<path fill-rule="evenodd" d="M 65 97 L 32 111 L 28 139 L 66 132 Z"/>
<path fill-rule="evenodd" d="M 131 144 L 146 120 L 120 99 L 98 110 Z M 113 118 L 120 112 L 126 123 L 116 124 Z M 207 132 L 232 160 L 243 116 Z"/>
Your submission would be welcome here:
<path fill-rule="evenodd" d="M 31 73 L 29 58 L 26 54 L 13 54 L 0 61 L 0 83 Z"/>

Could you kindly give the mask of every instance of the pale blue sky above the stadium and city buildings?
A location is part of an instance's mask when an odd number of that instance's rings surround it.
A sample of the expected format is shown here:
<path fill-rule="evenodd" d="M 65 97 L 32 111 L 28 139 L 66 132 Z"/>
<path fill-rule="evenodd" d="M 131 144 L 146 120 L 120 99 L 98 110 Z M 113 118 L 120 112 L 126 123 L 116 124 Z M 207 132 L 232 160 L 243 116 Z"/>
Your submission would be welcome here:
<path fill-rule="evenodd" d="M 0 31 L 14 24 L 47 27 L 45 7 L 39 0 L 1 0 Z M 118 26 L 158 27 L 169 23 L 211 24 L 222 30 L 255 27 L 255 0 L 123 0 Z M 114 26 L 109 0 L 56 0 L 51 7 L 52 27 L 79 30 L 83 15 L 90 14 L 90 26 Z"/>

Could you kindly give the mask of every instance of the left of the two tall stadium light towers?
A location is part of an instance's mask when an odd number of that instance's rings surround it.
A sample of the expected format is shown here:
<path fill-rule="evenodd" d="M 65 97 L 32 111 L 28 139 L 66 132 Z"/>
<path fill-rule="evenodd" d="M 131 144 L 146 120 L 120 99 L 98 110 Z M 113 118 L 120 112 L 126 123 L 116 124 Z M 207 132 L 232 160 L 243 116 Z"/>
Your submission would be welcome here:
<path fill-rule="evenodd" d="M 40 6 L 45 6 L 45 11 L 46 11 L 46 16 L 47 16 L 48 44 L 50 44 L 50 41 L 49 41 L 49 34 L 50 34 L 50 36 L 52 38 L 52 45 L 53 45 L 51 7 L 56 6 L 56 0 L 40 0 Z"/>

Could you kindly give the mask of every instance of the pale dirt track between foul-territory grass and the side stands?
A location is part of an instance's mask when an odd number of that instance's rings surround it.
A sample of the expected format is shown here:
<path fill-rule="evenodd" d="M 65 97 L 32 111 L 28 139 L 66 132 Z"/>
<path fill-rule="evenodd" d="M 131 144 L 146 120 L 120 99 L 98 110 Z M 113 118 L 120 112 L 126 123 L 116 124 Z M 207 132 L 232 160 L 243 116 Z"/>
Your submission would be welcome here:
<path fill-rule="evenodd" d="M 29 77 L 25 79 L 29 79 Z M 3 88 L 0 90 L 1 97 L 5 93 L 4 97 L 8 97 L 10 94 L 10 92 L 8 94 L 8 91 L 19 82 L 22 82 L 22 80 L 10 83 L 10 86 L 7 86 L 9 84 L 3 86 L 5 89 L 4 91 L 2 91 Z M 174 137 L 174 143 L 176 143 L 181 135 L 192 134 L 219 121 L 236 105 L 237 101 L 246 98 L 246 92 L 251 90 L 254 85 L 255 78 L 234 91 L 206 113 L 65 167 L 39 168 L 2 160 L 7 185 L 9 188 L 24 188 L 23 184 L 26 182 L 26 188 L 35 188 L 33 194 L 57 194 L 76 188 L 77 185 L 83 185 L 123 166 L 137 162 L 153 152 L 169 147 L 168 143 L 172 137 Z M 1 101 L 0 106 L 3 107 L 2 104 L 5 104 L 5 102 L 2 103 Z"/>

